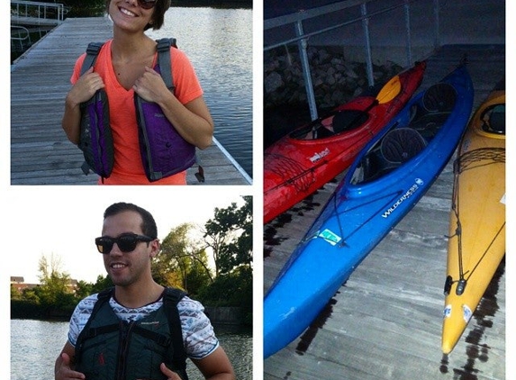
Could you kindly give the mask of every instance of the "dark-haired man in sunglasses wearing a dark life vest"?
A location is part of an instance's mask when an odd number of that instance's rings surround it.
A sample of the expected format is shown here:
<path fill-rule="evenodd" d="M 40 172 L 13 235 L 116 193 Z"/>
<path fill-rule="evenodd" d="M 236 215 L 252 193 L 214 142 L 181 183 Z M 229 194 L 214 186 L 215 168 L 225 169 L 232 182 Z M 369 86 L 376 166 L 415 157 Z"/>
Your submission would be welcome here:
<path fill-rule="evenodd" d="M 169 315 L 164 312 L 165 288 L 154 281 L 150 272 L 151 259 L 159 251 L 157 236 L 154 218 L 139 206 L 118 203 L 105 210 L 102 237 L 95 239 L 95 244 L 103 254 L 114 291 L 108 301 L 99 303 L 103 306 L 95 312 L 95 318 L 90 316 L 99 294 L 77 305 L 70 320 L 68 341 L 56 360 L 56 380 L 186 377 L 186 358 L 185 366 L 175 368 L 167 360 L 169 351 L 175 350 L 170 343 L 174 334 L 168 329 Z M 186 356 L 206 379 L 235 379 L 230 360 L 203 311 L 201 303 L 186 296 L 177 303 Z M 163 334 L 170 339 L 161 339 Z M 160 339 L 149 338 L 156 336 L 161 339 L 159 344 Z M 167 348 L 163 348 L 164 341 Z"/>

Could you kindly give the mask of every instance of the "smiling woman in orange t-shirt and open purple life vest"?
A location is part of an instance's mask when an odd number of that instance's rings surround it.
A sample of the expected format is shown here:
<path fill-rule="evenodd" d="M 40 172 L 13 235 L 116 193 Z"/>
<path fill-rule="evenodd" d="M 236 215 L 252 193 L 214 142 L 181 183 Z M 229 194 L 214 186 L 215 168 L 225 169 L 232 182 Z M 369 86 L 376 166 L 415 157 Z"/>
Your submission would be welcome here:
<path fill-rule="evenodd" d="M 157 41 L 145 34 L 161 28 L 170 0 L 105 5 L 113 39 L 77 59 L 62 127 L 85 153 L 89 169 L 101 176 L 99 184 L 186 185 L 186 168 L 195 162 L 191 152 L 211 145 L 213 120 L 185 53 L 172 43 L 169 57 L 158 60 Z M 140 104 L 155 104 L 158 111 L 147 113 Z M 97 150 L 105 154 L 99 158 Z M 158 168 L 165 162 L 173 167 Z"/>

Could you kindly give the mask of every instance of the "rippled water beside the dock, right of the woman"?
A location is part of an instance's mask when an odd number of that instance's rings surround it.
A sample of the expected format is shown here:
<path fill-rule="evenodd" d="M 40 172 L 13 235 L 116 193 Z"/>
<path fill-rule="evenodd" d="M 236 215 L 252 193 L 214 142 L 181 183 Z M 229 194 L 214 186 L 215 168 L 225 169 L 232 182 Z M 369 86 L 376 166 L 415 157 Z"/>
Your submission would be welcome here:
<path fill-rule="evenodd" d="M 172 7 L 148 34 L 177 39 L 203 86 L 215 138 L 252 177 L 252 10 Z"/>

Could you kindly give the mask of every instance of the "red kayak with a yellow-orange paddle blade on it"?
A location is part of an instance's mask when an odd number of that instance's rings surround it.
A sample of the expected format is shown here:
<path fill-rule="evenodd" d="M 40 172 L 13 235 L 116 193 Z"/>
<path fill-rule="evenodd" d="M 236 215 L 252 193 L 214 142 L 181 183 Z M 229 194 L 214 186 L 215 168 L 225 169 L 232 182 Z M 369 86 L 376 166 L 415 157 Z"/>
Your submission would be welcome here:
<path fill-rule="evenodd" d="M 302 201 L 351 165 L 421 85 L 426 62 L 292 131 L 264 153 L 264 222 Z"/>

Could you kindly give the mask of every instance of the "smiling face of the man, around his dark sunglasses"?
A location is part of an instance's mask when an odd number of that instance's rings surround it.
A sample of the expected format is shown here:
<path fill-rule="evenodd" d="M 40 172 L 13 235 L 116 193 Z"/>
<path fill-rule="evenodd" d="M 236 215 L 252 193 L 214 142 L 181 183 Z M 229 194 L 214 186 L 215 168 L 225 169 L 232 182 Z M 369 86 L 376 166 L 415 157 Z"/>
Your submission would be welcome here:
<path fill-rule="evenodd" d="M 104 219 L 102 236 L 118 238 L 122 234 L 143 235 L 139 213 L 126 211 Z M 158 240 L 149 243 L 139 241 L 131 252 L 122 252 L 113 244 L 109 254 L 104 254 L 104 267 L 114 285 L 127 286 L 150 276 L 150 258 L 158 252 Z"/>

